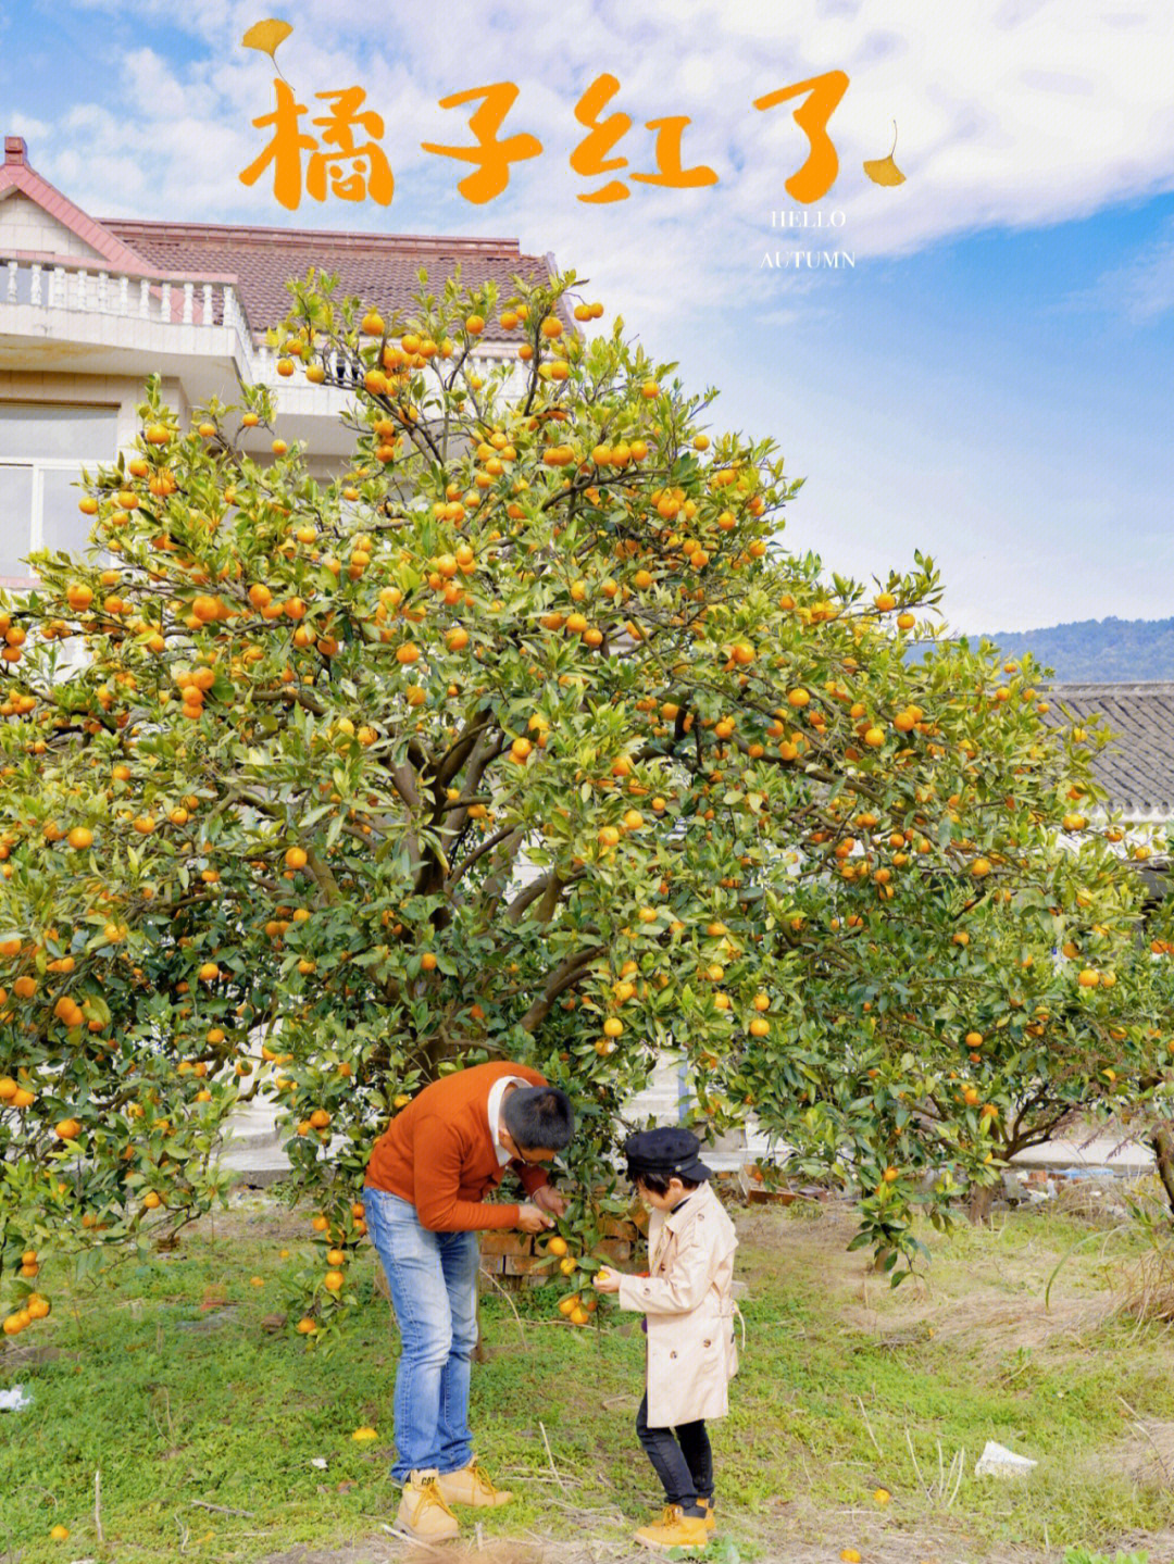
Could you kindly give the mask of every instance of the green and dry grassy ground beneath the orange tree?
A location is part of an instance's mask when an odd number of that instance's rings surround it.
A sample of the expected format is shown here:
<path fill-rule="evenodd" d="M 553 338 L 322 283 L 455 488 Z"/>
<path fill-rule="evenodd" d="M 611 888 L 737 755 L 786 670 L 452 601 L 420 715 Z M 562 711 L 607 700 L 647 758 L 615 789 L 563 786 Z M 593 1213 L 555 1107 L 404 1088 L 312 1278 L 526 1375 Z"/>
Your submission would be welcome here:
<path fill-rule="evenodd" d="M 1051 1209 L 1000 1214 L 927 1234 L 925 1279 L 893 1292 L 846 1253 L 843 1207 L 735 1217 L 747 1351 L 732 1415 L 713 1428 L 718 1564 L 835 1564 L 847 1547 L 864 1564 L 1041 1564 L 1074 1545 L 1174 1559 L 1174 1336 L 1113 1315 L 1140 1239 Z M 335 1356 L 261 1323 L 281 1309 L 308 1231 L 308 1214 L 252 1196 L 175 1254 L 84 1286 L 50 1262 L 53 1315 L 0 1354 L 0 1384 L 33 1397 L 0 1414 L 0 1564 L 413 1558 L 381 1530 L 397 1501 L 397 1342 L 374 1261 Z M 472 1423 L 478 1455 L 517 1497 L 466 1528 L 472 1558 L 621 1564 L 657 1498 L 632 1433 L 642 1339 L 622 1315 L 575 1331 L 541 1293 L 517 1308 L 521 1318 L 485 1300 Z M 372 1444 L 350 1439 L 363 1425 L 378 1431 Z M 1038 1469 L 1019 1483 L 975 1478 L 988 1439 Z M 55 1523 L 69 1541 L 48 1539 Z"/>

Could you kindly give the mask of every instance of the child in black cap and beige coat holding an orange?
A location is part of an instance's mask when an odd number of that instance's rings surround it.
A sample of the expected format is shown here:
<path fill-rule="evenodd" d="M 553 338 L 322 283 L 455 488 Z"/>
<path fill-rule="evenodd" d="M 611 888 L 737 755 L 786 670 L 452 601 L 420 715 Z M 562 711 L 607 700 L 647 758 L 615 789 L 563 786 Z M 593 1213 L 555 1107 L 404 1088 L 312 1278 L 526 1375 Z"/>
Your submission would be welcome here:
<path fill-rule="evenodd" d="M 652 1212 L 649 1275 L 596 1278 L 622 1309 L 646 1317 L 647 1390 L 639 1439 L 664 1486 L 661 1520 L 636 1541 L 650 1548 L 697 1548 L 713 1537 L 713 1451 L 705 1420 L 728 1411 L 738 1370 L 733 1336 L 733 1223 L 708 1186 L 700 1142 L 688 1129 L 646 1129 L 624 1153 L 628 1178 Z"/>

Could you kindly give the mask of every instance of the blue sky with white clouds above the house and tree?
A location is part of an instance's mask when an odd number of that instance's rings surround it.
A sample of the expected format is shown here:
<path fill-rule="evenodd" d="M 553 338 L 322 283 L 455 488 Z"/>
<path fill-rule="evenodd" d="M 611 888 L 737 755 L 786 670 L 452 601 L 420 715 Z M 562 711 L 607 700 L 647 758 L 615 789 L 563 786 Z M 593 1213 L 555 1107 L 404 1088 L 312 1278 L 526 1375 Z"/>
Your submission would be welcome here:
<path fill-rule="evenodd" d="M 239 47 L 267 13 L 208 0 L 5 5 L 0 130 L 95 216 L 517 236 L 591 277 L 716 419 L 774 435 L 808 482 L 786 536 L 858 576 L 916 547 L 963 630 L 1174 615 L 1174 13 L 1165 0 L 750 0 L 725 6 L 539 0 L 413 6 L 372 27 L 360 0 L 275 0 L 294 23 L 283 70 L 305 100 L 361 84 L 386 120 L 391 208 L 288 214 L 236 178 L 272 106 L 269 61 Z M 768 16 L 768 11 L 771 13 Z M 761 266 L 794 238 L 783 180 L 804 155 L 788 109 L 753 97 L 843 69 L 832 120 L 841 172 L 811 211 L 843 227 L 850 271 Z M 588 206 L 567 166 L 574 105 L 600 72 L 621 145 L 647 167 L 642 122 L 686 113 L 686 161 L 707 191 L 633 186 Z M 438 100 L 513 80 L 506 130 L 541 138 L 500 199 L 474 206 L 466 172 L 421 141 L 469 139 Z M 899 189 L 863 158 L 899 124 Z M 808 230 L 811 233 L 811 230 Z M 793 230 L 794 235 L 794 230 Z"/>

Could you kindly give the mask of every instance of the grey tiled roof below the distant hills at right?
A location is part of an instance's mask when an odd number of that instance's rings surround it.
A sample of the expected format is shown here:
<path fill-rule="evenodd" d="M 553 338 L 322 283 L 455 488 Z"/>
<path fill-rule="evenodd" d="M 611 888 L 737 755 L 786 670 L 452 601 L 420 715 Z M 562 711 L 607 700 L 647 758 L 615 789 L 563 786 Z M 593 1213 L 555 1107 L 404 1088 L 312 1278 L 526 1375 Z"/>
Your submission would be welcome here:
<path fill-rule="evenodd" d="M 1174 820 L 1174 683 L 1054 683 L 1047 701 L 1113 735 L 1093 771 L 1115 809 Z"/>

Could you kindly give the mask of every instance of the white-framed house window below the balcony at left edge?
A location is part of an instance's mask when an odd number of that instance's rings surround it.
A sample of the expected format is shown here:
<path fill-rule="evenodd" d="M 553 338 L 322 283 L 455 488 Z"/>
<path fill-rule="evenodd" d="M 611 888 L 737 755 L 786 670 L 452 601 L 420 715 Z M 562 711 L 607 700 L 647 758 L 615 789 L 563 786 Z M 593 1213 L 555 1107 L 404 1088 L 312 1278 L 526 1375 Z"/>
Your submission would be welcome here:
<path fill-rule="evenodd" d="M 0 402 L 0 586 L 27 585 L 34 549 L 80 554 L 94 521 L 78 510 L 81 468 L 113 461 L 113 407 Z"/>

